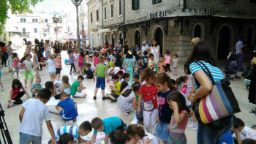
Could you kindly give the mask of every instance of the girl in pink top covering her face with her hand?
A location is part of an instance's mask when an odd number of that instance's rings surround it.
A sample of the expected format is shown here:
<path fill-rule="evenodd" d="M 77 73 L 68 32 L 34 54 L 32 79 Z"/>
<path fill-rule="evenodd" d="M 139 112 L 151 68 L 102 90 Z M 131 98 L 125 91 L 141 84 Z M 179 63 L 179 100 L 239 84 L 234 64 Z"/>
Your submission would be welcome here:
<path fill-rule="evenodd" d="M 173 91 L 167 96 L 167 102 L 173 115 L 169 125 L 169 140 L 167 143 L 187 143 L 185 129 L 189 118 L 189 108 L 186 105 L 184 96 L 178 91 Z"/>

